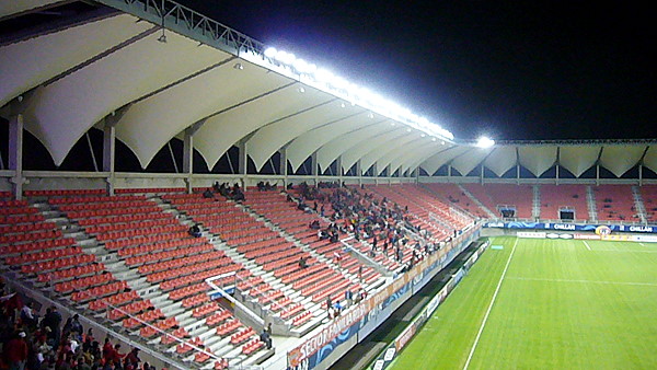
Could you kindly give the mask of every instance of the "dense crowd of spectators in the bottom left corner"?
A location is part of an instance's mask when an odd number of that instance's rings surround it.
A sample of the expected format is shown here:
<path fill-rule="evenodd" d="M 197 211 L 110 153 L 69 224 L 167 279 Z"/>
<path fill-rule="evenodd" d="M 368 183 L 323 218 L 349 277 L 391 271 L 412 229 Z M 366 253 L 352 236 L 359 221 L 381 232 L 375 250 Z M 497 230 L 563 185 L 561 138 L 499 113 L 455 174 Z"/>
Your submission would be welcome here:
<path fill-rule="evenodd" d="M 8 293 L 2 281 L 0 294 L 0 369 L 154 370 L 139 359 L 138 348 L 122 352 L 120 344 L 110 337 L 101 346 L 77 314 L 64 321 L 57 308 L 49 307 L 42 317 L 32 302 Z"/>

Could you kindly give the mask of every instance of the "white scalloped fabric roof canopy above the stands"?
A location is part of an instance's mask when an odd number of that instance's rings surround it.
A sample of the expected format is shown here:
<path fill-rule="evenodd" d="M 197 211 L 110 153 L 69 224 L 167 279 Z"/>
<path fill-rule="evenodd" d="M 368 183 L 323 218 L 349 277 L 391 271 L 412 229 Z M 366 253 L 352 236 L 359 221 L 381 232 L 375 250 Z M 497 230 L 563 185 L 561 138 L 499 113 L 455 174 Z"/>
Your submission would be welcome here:
<path fill-rule="evenodd" d="M 2 0 L 3 13 L 57 1 Z M 128 13 L 0 46 L 0 107 L 23 96 L 25 128 L 64 162 L 104 117 L 120 112 L 116 137 L 142 167 L 195 124 L 194 147 L 211 169 L 245 142 L 256 170 L 281 148 L 293 170 L 316 152 L 320 169 L 414 170 L 449 164 L 462 175 L 484 165 L 498 176 L 518 163 L 540 176 L 555 163 L 580 176 L 599 163 L 616 176 L 642 162 L 657 170 L 653 142 L 511 142 L 489 149 L 436 139 L 390 116 L 280 72 L 264 60 L 208 46 Z"/>

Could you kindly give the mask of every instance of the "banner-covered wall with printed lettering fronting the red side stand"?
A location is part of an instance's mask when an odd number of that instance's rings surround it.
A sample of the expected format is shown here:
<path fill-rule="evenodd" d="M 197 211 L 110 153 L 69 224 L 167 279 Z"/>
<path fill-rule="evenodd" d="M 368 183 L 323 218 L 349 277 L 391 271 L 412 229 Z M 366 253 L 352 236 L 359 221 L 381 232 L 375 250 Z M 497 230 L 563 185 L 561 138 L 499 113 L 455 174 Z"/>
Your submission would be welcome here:
<path fill-rule="evenodd" d="M 411 296 L 417 293 L 472 241 L 479 239 L 480 231 L 481 226 L 476 226 L 464 232 L 407 273 L 396 276 L 392 282 L 371 293 L 365 301 L 346 310 L 287 354 L 288 369 L 327 369 L 335 363 Z"/>

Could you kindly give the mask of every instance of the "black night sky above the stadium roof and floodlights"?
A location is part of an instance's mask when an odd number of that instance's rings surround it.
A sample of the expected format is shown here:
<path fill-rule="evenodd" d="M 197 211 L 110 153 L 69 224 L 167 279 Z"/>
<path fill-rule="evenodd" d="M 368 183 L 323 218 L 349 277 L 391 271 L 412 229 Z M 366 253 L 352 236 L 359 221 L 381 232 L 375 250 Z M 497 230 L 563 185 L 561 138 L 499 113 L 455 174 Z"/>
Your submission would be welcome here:
<path fill-rule="evenodd" d="M 648 1 L 180 2 L 457 138 L 657 138 Z"/>

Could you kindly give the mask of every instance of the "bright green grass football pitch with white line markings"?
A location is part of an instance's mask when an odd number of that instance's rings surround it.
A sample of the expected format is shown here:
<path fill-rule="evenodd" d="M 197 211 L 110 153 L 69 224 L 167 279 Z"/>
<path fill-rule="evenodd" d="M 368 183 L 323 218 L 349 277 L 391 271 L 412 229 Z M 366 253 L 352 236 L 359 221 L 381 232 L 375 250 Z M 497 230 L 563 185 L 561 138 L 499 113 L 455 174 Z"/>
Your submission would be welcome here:
<path fill-rule="evenodd" d="M 657 369 L 657 244 L 492 245 L 392 369 Z"/>

